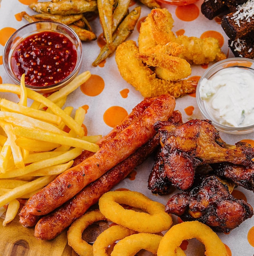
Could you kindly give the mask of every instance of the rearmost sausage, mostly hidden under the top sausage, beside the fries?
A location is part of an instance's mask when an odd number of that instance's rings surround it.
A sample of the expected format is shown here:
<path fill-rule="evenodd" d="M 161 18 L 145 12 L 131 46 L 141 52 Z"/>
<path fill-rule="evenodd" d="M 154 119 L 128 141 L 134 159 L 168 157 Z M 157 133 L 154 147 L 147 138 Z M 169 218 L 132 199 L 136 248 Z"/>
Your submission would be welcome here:
<path fill-rule="evenodd" d="M 106 141 L 108 141 L 110 139 L 113 139 L 117 134 L 119 134 L 119 132 L 123 131 L 130 124 L 137 121 L 139 116 L 142 115 L 144 110 L 146 110 L 146 108 L 148 108 L 150 106 L 152 101 L 153 101 L 152 98 L 146 98 L 143 101 L 141 101 L 141 103 L 137 104 L 137 106 L 135 106 L 133 108 L 132 112 L 123 121 L 121 121 L 120 124 L 115 126 L 115 128 L 113 128 L 107 135 L 102 137 L 102 139 L 100 139 L 97 142 L 97 144 L 99 146 L 102 146 L 103 144 L 106 143 Z M 93 154 L 94 154 L 93 152 L 84 150 L 80 156 L 78 156 L 74 159 L 72 167 L 80 164 L 86 158 L 92 156 Z M 35 226 L 35 224 L 38 222 L 38 220 L 41 217 L 41 216 L 36 216 L 36 215 L 31 214 L 31 213 L 28 213 L 26 205 L 21 209 L 19 216 L 20 216 L 20 223 L 24 227 L 33 227 L 33 226 Z"/>

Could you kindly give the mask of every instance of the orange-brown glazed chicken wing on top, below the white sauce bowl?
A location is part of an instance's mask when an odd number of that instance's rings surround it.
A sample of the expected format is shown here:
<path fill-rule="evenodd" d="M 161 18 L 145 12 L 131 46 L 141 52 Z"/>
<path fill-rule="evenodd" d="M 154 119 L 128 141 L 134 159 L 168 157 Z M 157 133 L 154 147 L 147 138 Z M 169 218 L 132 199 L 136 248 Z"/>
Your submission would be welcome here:
<path fill-rule="evenodd" d="M 209 120 L 195 119 L 175 127 L 172 124 L 163 127 L 161 122 L 158 130 L 162 138 L 158 157 L 159 162 L 163 161 L 160 176 L 167 177 L 180 190 L 192 186 L 195 169 L 203 164 L 230 162 L 250 166 L 253 163 L 254 148 L 250 144 L 226 144 Z"/>

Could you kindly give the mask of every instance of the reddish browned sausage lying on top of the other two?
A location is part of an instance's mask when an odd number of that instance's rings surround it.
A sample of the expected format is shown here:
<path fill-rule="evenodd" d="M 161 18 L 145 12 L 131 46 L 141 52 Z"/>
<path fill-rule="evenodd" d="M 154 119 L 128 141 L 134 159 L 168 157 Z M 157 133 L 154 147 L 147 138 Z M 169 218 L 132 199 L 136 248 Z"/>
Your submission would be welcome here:
<path fill-rule="evenodd" d="M 153 99 L 152 103 L 133 124 L 117 134 L 91 157 L 60 174 L 27 202 L 27 212 L 46 215 L 67 202 L 86 185 L 133 154 L 155 135 L 153 124 L 167 120 L 175 107 L 169 94 Z"/>

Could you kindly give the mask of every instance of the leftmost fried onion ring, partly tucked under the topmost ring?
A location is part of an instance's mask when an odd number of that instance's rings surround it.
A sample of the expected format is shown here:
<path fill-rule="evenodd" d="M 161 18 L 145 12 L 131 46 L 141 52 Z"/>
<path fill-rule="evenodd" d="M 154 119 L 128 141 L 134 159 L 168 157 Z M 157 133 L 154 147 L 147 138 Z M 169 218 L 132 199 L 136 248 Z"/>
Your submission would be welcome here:
<path fill-rule="evenodd" d="M 80 256 L 93 256 L 93 246 L 82 239 L 82 233 L 89 225 L 99 220 L 107 220 L 99 210 L 89 211 L 75 220 L 68 229 L 68 245 Z"/>

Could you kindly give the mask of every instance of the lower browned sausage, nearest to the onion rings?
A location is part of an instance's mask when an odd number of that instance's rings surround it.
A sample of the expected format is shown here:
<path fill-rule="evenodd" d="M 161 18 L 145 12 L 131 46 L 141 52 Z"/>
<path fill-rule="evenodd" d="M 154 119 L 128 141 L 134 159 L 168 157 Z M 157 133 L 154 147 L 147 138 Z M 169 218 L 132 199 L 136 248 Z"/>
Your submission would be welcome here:
<path fill-rule="evenodd" d="M 141 164 L 159 145 L 159 136 L 155 135 L 144 146 L 110 169 L 95 182 L 86 186 L 74 198 L 63 204 L 49 215 L 42 217 L 35 226 L 35 237 L 51 240 L 59 235 L 71 223 L 80 218 L 99 198 L 124 180 L 133 169 Z"/>

